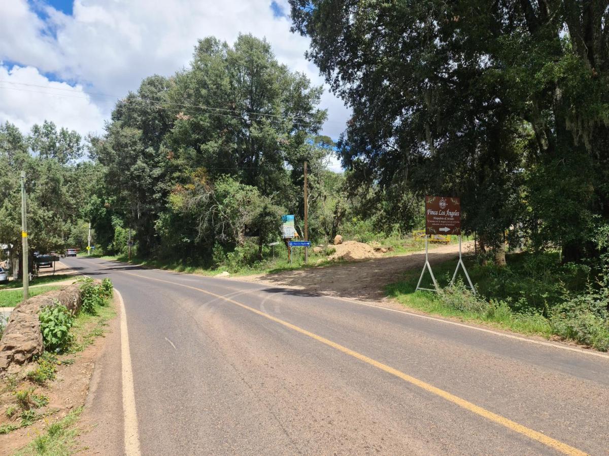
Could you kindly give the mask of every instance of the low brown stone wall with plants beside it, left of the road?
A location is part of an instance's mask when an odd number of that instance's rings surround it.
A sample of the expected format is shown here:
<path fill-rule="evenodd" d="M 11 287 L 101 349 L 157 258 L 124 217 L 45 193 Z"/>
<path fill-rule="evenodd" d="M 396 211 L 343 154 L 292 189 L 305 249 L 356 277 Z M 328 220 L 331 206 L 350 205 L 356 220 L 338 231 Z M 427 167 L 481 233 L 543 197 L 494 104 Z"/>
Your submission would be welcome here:
<path fill-rule="evenodd" d="M 80 283 L 39 294 L 13 309 L 0 339 L 0 376 L 7 371 L 18 370 L 18 365 L 43 352 L 38 313 L 42 308 L 54 306 L 57 302 L 76 314 L 82 304 Z"/>

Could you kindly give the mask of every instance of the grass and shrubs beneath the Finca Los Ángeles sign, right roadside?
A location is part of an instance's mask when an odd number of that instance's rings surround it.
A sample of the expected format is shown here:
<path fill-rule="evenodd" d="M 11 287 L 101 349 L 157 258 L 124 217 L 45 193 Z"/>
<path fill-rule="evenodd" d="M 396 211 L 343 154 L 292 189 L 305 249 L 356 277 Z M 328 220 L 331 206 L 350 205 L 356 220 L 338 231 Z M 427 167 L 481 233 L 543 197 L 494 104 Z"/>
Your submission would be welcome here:
<path fill-rule="evenodd" d="M 466 258 L 473 294 L 463 272 L 449 286 L 456 261 L 434 268 L 439 293 L 417 291 L 420 270 L 387 287 L 387 295 L 403 305 L 445 317 L 474 320 L 524 334 L 560 337 L 609 350 L 609 269 L 586 264 L 561 264 L 558 252 L 508 254 L 508 266 L 481 264 Z M 596 280 L 593 280 L 596 278 Z M 424 288 L 433 288 L 426 272 Z"/>

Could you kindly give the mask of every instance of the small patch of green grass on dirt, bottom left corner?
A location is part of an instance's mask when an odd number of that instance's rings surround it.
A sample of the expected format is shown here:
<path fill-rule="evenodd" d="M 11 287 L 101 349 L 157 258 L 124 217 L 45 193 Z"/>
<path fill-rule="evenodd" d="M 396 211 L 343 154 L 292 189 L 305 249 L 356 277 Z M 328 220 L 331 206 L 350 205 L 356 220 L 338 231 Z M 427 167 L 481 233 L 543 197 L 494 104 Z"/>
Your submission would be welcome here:
<path fill-rule="evenodd" d="M 79 429 L 75 425 L 82 410 L 83 407 L 79 407 L 61 420 L 48 424 L 43 434 L 38 435 L 26 447 L 16 452 L 16 455 L 63 456 L 76 453 L 76 437 L 79 435 Z"/>

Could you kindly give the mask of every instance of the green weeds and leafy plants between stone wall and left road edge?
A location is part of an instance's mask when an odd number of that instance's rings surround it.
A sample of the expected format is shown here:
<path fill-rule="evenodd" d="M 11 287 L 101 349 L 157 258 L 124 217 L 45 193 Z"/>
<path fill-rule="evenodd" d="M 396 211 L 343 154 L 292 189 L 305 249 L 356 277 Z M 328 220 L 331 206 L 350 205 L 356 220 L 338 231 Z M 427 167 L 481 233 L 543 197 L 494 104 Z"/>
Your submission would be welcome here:
<path fill-rule="evenodd" d="M 107 322 L 114 314 L 110 305 L 112 283 L 104 279 L 97 285 L 91 278 L 80 280 L 83 304 L 73 316 L 65 306 L 44 308 L 40 314 L 44 352 L 35 362 L 0 381 L 0 435 L 45 421 L 45 433 L 39 435 L 19 454 L 69 454 L 77 431 L 80 409 L 60 420 L 54 417 L 62 410 L 49 408 L 54 394 L 58 368 L 78 362 L 77 354 L 104 335 Z M 69 379 L 66 379 L 69 381 Z"/>

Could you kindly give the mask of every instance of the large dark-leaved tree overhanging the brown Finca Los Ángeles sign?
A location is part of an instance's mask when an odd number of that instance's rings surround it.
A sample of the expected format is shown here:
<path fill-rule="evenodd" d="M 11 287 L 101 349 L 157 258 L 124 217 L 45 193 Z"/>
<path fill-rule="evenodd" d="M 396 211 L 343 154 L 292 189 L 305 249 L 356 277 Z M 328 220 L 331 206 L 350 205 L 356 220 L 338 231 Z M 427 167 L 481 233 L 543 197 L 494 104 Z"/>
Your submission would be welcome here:
<path fill-rule="evenodd" d="M 607 1 L 290 4 L 353 109 L 340 145 L 354 182 L 460 195 L 466 229 L 496 248 L 508 227 L 542 221 L 580 257 L 586 219 L 609 215 Z M 524 199 L 539 173 L 547 196 Z"/>

